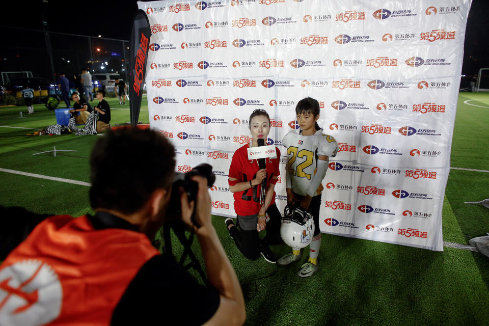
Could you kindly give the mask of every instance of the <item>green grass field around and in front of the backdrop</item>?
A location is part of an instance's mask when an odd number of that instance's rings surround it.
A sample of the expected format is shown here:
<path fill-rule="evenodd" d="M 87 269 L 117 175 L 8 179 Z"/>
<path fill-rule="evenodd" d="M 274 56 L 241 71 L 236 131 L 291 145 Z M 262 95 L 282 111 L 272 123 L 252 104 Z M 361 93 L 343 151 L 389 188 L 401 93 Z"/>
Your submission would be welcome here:
<path fill-rule="evenodd" d="M 128 104 L 113 107 L 112 124 L 129 121 Z M 477 106 L 475 106 L 477 105 Z M 55 123 L 42 105 L 0 108 L 0 169 L 89 182 L 88 157 L 100 136 L 29 137 L 26 133 Z M 140 120 L 148 123 L 143 99 Z M 24 118 L 19 118 L 19 111 Z M 452 169 L 443 207 L 443 240 L 468 244 L 489 232 L 489 210 L 464 204 L 489 198 L 489 94 L 460 93 L 454 128 Z M 12 128 L 19 127 L 19 128 Z M 32 155 L 42 151 L 76 150 Z M 143 168 L 143 164 L 141 168 Z M 114 176 L 123 177 L 123 176 Z M 39 213 L 90 212 L 88 187 L 0 170 L 0 204 Z M 308 278 L 295 275 L 301 263 L 269 264 L 243 258 L 214 216 L 240 280 L 247 325 L 487 325 L 489 258 L 478 252 L 445 247 L 444 252 L 323 234 L 320 269 Z M 175 243 L 177 255 L 181 252 Z M 199 257 L 199 247 L 193 244 Z M 285 245 L 275 252 L 288 251 Z"/>

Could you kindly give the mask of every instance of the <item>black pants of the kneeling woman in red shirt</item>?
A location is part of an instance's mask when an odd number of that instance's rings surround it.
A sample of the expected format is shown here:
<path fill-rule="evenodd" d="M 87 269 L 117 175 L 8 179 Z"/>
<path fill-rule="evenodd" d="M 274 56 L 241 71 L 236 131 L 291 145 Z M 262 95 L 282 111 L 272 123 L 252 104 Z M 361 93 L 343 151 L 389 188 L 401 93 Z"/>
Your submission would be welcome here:
<path fill-rule="evenodd" d="M 256 260 L 260 258 L 261 248 L 270 245 L 280 244 L 283 242 L 280 236 L 280 225 L 282 223 L 282 215 L 275 203 L 270 205 L 266 210 L 270 220 L 266 223 L 266 235 L 260 240 L 258 231 L 246 231 L 233 226 L 229 229 L 231 236 L 234 238 L 236 247 L 244 255 L 244 257 Z"/>

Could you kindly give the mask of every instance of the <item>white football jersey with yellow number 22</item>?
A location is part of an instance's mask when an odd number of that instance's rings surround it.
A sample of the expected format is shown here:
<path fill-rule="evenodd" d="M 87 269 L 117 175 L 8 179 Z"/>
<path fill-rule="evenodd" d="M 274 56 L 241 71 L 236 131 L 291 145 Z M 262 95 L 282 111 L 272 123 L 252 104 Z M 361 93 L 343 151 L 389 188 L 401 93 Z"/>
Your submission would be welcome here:
<path fill-rule="evenodd" d="M 283 139 L 283 145 L 287 148 L 287 171 L 292 191 L 305 196 L 316 173 L 317 157 L 335 157 L 338 143 L 333 136 L 323 133 L 322 130 L 317 130 L 310 136 L 301 134 L 301 131 L 289 131 Z M 316 194 L 319 195 L 321 191 L 322 186 L 319 185 Z"/>

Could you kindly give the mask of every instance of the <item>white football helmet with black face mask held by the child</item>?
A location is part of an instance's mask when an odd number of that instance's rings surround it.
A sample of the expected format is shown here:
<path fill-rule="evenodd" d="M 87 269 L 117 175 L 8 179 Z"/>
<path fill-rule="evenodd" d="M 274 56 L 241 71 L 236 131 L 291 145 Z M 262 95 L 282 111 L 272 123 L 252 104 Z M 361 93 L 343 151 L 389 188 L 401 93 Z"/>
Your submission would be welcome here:
<path fill-rule="evenodd" d="M 314 220 L 308 210 L 287 204 L 280 226 L 280 236 L 292 248 L 309 246 L 314 236 Z"/>

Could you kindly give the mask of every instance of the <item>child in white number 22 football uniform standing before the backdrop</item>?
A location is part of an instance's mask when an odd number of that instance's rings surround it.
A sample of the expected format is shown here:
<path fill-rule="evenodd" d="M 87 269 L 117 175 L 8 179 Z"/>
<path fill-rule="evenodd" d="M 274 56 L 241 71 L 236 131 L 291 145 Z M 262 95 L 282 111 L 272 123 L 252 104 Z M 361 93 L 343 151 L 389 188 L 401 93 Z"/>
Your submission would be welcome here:
<path fill-rule="evenodd" d="M 309 245 L 309 260 L 301 266 L 297 275 L 308 277 L 319 268 L 317 256 L 321 245 L 319 229 L 319 208 L 321 205 L 322 179 L 328 170 L 329 157 L 338 152 L 336 140 L 318 126 L 319 103 L 306 97 L 295 106 L 296 120 L 299 129 L 288 132 L 283 145 L 287 148 L 286 191 L 289 203 L 300 202 L 308 209 L 314 219 L 314 237 Z M 301 258 L 301 250 L 292 248 L 292 253 L 277 260 L 280 265 L 287 265 Z"/>

